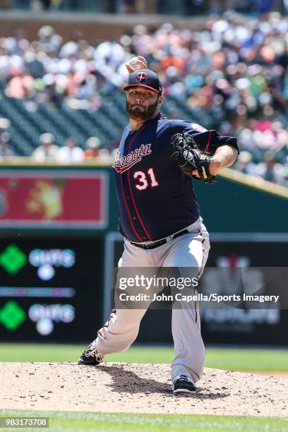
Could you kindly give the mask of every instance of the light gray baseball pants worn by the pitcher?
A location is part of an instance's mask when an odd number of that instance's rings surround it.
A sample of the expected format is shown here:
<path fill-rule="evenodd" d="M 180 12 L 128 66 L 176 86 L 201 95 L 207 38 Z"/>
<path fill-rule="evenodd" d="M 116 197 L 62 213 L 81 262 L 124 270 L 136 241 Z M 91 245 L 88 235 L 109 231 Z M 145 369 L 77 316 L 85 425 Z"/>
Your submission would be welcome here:
<path fill-rule="evenodd" d="M 208 232 L 202 218 L 186 227 L 188 234 L 176 237 L 154 249 L 143 249 L 125 239 L 124 253 L 119 267 L 181 268 L 183 277 L 200 277 L 205 267 L 210 249 Z M 187 269 L 187 272 L 185 271 Z M 186 273 L 185 275 L 182 272 Z M 197 291 L 196 291 L 197 293 Z M 193 293 L 194 294 L 194 293 Z M 146 306 L 146 305 L 145 305 Z M 140 321 L 147 307 L 140 309 L 117 309 L 112 311 L 109 320 L 99 330 L 93 347 L 100 354 L 112 354 L 128 349 L 136 340 Z M 198 302 L 183 304 L 182 308 L 172 309 L 172 335 L 175 357 L 172 362 L 172 380 L 186 375 L 193 383 L 203 374 L 205 347 L 200 332 Z"/>

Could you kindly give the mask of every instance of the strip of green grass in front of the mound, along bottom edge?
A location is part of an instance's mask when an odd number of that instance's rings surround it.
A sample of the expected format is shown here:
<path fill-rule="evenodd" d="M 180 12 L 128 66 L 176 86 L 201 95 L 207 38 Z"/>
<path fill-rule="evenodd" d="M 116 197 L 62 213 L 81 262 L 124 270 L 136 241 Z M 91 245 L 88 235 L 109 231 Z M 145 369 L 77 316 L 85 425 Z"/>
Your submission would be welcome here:
<path fill-rule="evenodd" d="M 98 432 L 203 432 L 268 431 L 287 432 L 288 419 L 275 417 L 203 416 L 191 414 L 106 414 L 88 412 L 1 411 L 1 416 L 46 416 L 49 429 L 30 431 Z M 11 429 L 1 429 L 11 431 Z M 28 429 L 20 429 L 28 430 Z"/>

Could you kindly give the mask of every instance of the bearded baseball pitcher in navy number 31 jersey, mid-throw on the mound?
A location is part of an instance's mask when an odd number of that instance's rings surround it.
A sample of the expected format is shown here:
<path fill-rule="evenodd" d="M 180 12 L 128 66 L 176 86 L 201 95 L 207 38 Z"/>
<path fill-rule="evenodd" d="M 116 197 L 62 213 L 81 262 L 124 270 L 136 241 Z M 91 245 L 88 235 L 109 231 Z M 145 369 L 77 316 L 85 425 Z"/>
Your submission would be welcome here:
<path fill-rule="evenodd" d="M 217 172 L 236 160 L 236 138 L 164 117 L 160 78 L 147 68 L 143 57 L 138 59 L 136 71 L 126 65 L 130 122 L 113 164 L 119 230 L 125 239 L 119 268 L 186 268 L 191 278 L 199 278 L 210 243 L 193 181 L 215 182 Z M 128 349 L 145 311 L 113 309 L 78 364 L 97 365 L 106 354 Z M 172 335 L 172 391 L 193 392 L 205 359 L 197 301 L 189 308 L 173 308 Z"/>

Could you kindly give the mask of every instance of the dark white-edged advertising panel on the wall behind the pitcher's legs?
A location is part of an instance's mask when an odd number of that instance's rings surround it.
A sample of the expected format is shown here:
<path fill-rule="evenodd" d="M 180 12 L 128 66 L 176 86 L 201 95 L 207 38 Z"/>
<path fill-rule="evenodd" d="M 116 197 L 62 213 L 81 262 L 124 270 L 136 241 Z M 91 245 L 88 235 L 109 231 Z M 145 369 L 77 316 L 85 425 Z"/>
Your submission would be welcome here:
<path fill-rule="evenodd" d="M 212 234 L 211 244 L 208 262 L 199 284 L 199 292 L 203 295 L 241 295 L 243 276 L 245 287 L 256 294 L 262 293 L 265 287 L 263 281 L 267 281 L 267 277 L 272 294 L 278 292 L 277 289 L 282 289 L 283 283 L 287 284 L 286 241 L 239 241 L 236 238 L 232 239 L 230 234 L 223 234 L 221 239 L 219 236 L 213 239 Z M 107 270 L 113 266 L 116 268 L 123 247 L 124 239 L 119 234 L 110 233 L 107 236 Z M 114 278 L 107 270 L 104 291 L 105 316 L 114 306 Z M 278 272 L 284 275 L 284 280 L 280 280 Z M 286 289 L 284 293 L 287 293 Z M 171 308 L 155 308 L 152 304 L 140 324 L 137 340 L 172 342 L 171 313 Z M 277 304 L 268 304 L 266 301 L 255 307 L 251 307 L 251 304 L 241 304 L 239 308 L 200 305 L 200 316 L 201 332 L 205 342 L 288 346 L 287 296 L 285 301 L 282 299 Z"/>

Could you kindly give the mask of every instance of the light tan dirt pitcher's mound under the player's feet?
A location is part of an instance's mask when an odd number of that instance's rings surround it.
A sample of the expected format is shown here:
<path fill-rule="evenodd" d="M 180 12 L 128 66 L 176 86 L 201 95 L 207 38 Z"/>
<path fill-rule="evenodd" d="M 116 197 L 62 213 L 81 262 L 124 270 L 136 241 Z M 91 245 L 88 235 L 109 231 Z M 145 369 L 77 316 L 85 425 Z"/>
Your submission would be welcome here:
<path fill-rule="evenodd" d="M 205 368 L 172 395 L 168 364 L 0 363 L 0 409 L 287 416 L 288 380 Z"/>

